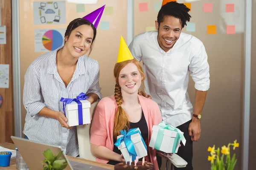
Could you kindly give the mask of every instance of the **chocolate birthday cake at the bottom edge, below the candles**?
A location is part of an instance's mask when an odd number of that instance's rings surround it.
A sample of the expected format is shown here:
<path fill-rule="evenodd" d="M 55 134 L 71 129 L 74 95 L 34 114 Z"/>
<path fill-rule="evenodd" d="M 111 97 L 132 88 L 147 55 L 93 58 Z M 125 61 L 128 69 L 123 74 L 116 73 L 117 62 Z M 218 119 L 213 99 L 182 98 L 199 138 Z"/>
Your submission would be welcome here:
<path fill-rule="evenodd" d="M 134 165 L 134 162 L 120 162 L 119 164 L 116 164 L 114 167 L 114 170 L 154 170 L 153 164 L 150 162 L 145 161 L 143 164 L 142 161 L 138 161 L 136 166 Z"/>

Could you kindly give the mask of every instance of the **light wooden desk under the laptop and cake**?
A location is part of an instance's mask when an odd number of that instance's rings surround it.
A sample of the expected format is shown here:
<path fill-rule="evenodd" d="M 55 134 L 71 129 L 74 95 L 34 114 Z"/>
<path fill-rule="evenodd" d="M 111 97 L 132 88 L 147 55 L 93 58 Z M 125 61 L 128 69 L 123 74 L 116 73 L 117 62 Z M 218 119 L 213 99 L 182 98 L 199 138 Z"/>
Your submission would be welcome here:
<path fill-rule="evenodd" d="M 0 146 L 2 147 L 6 147 L 8 149 L 12 149 L 15 150 L 15 144 L 11 144 L 11 143 L 0 143 Z M 84 164 L 90 164 L 90 165 L 94 165 L 94 166 L 98 166 L 98 167 L 103 167 L 109 170 L 113 170 L 114 166 L 110 165 L 110 164 L 103 164 L 103 163 L 99 163 L 96 161 L 89 161 L 86 159 L 82 159 L 82 158 L 75 158 L 72 156 L 67 156 L 67 159 L 70 161 L 76 161 L 76 162 L 81 162 Z M 16 170 L 16 159 L 11 160 L 10 166 L 9 167 L 0 167 L 0 170 Z"/>

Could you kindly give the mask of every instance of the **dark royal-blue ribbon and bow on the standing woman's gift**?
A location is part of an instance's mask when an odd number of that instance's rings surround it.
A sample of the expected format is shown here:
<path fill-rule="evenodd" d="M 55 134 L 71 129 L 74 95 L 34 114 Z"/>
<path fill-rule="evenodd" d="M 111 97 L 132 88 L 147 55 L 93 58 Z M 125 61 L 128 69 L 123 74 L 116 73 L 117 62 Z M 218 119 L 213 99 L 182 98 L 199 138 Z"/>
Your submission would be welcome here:
<path fill-rule="evenodd" d="M 78 122 L 79 122 L 79 125 L 83 125 L 83 107 L 82 107 L 82 103 L 80 102 L 80 100 L 86 100 L 87 98 L 89 98 L 88 96 L 86 96 L 86 94 L 84 93 L 80 93 L 76 99 L 70 99 L 70 98 L 63 98 L 61 97 L 61 102 L 62 102 L 62 105 L 63 105 L 63 112 L 66 116 L 66 111 L 65 111 L 65 108 L 66 108 L 66 105 L 70 104 L 71 102 L 76 102 L 77 105 L 78 105 Z"/>

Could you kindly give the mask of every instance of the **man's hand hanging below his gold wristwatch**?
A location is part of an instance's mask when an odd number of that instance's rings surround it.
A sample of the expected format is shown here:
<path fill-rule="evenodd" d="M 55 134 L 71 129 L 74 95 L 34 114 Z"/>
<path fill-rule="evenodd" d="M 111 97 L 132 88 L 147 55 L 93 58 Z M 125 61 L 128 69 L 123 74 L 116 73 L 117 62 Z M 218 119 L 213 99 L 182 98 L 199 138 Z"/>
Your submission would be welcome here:
<path fill-rule="evenodd" d="M 193 117 L 189 124 L 189 136 L 192 141 L 198 141 L 201 135 L 201 125 L 199 119 Z"/>

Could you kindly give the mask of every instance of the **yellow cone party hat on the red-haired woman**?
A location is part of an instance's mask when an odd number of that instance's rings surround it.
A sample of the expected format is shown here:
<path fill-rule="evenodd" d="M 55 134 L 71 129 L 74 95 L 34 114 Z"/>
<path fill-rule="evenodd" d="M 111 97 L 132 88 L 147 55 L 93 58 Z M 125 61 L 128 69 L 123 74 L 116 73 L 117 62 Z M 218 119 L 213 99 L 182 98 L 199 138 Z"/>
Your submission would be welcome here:
<path fill-rule="evenodd" d="M 117 62 L 123 62 L 123 61 L 130 60 L 130 59 L 134 59 L 134 57 L 132 57 L 129 48 L 125 43 L 125 40 L 121 36 Z"/>

